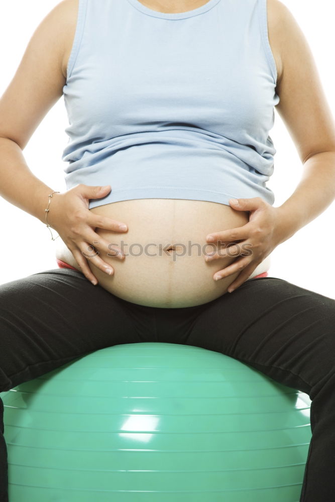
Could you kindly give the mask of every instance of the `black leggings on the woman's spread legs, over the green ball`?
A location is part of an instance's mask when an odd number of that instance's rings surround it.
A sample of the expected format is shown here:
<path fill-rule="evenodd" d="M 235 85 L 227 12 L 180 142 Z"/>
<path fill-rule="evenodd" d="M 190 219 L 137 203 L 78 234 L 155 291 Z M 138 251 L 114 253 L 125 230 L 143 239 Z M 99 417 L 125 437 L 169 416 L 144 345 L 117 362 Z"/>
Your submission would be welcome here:
<path fill-rule="evenodd" d="M 300 502 L 335 500 L 335 300 L 275 277 L 167 309 L 122 300 L 70 269 L 0 286 L 0 392 L 85 353 L 148 341 L 221 352 L 308 394 L 312 439 Z M 0 501 L 8 502 L 3 433 L 0 400 Z"/>

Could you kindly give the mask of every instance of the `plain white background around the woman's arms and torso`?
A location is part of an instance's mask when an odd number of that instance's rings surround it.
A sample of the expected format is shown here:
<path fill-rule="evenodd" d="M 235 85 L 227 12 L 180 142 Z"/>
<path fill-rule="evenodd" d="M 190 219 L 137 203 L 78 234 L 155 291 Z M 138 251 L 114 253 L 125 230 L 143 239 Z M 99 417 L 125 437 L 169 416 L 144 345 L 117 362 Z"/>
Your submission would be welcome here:
<path fill-rule="evenodd" d="M 312 49 L 329 107 L 335 115 L 333 6 L 329 0 L 282 0 L 287 5 Z M 0 7 L 2 94 L 13 78 L 29 39 L 56 0 L 6 0 Z M 304 82 L 301 83 L 302 85 Z M 308 83 L 307 83 L 308 84 Z M 63 97 L 48 112 L 24 150 L 31 171 L 53 190 L 64 191 L 61 160 L 67 143 L 67 116 Z M 295 190 L 302 164 L 295 146 L 275 111 L 270 132 L 277 153 L 274 174 L 268 187 L 274 191 L 274 206 L 281 205 Z M 1 191 L 1 188 L 0 188 Z M 335 202 L 271 254 L 269 275 L 335 298 L 334 216 Z M 37 218 L 0 197 L 1 245 L 0 284 L 43 270 L 57 268 L 56 242 Z M 55 231 L 53 231 L 55 234 Z"/>

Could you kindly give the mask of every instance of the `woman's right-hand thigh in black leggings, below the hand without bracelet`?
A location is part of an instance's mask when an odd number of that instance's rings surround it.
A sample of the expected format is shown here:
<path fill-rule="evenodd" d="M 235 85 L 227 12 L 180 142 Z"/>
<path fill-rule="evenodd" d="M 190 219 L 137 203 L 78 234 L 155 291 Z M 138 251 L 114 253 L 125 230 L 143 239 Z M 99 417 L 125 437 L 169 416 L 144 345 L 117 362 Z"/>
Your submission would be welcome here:
<path fill-rule="evenodd" d="M 246 362 L 311 399 L 335 371 L 331 298 L 266 277 L 246 281 L 193 314 L 182 343 Z"/>

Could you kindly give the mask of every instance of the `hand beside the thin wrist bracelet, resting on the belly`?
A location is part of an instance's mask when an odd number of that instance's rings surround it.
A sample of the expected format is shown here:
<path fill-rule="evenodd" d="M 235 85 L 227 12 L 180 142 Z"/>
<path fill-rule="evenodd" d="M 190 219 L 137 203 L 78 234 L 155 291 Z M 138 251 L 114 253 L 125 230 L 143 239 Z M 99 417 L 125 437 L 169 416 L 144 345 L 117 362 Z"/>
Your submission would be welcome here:
<path fill-rule="evenodd" d="M 99 258 L 100 253 L 94 250 L 94 243 L 99 243 L 99 248 L 108 253 L 108 256 L 112 256 L 115 251 L 118 259 L 125 258 L 121 249 L 115 245 L 112 247 L 95 232 L 95 228 L 125 232 L 128 229 L 127 225 L 126 229 L 122 229 L 120 225 L 125 223 L 95 215 L 89 210 L 89 199 L 105 197 L 108 192 L 110 185 L 104 187 L 77 185 L 66 192 L 53 194 L 48 213 L 49 225 L 58 232 L 84 276 L 94 285 L 98 281 L 88 266 L 87 258 L 102 272 L 109 275 L 114 273 L 110 265 Z"/>

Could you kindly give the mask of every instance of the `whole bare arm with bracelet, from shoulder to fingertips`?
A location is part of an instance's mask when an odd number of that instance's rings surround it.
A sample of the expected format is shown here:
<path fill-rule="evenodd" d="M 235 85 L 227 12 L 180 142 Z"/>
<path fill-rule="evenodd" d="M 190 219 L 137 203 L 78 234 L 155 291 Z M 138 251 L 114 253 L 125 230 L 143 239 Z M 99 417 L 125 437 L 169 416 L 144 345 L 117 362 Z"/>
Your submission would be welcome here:
<path fill-rule="evenodd" d="M 23 150 L 37 126 L 63 94 L 66 66 L 78 16 L 78 0 L 62 0 L 39 24 L 31 37 L 16 74 L 0 98 L 0 195 L 45 222 L 48 187 L 30 171 Z M 71 39 L 71 40 L 70 40 Z M 121 249 L 110 248 L 95 228 L 127 231 L 120 223 L 89 211 L 88 201 L 104 196 L 99 186 L 77 185 L 53 199 L 48 222 L 70 249 L 86 278 L 97 283 L 88 266 L 109 274 L 100 253 L 123 259 Z M 110 188 L 109 190 L 110 191 Z M 87 249 L 99 241 L 99 253 L 87 258 Z"/>

